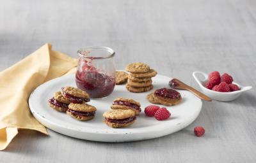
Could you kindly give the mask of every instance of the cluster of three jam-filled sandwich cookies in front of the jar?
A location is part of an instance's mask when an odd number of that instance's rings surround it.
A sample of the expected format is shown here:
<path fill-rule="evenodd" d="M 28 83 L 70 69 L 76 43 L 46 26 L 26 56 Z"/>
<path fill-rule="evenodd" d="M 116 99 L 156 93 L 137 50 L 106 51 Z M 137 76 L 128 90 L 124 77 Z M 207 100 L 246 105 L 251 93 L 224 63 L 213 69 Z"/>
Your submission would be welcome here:
<path fill-rule="evenodd" d="M 94 118 L 96 108 L 90 104 L 89 95 L 75 87 L 64 87 L 55 92 L 48 104 L 54 110 L 66 112 L 77 120 L 91 120 Z"/>

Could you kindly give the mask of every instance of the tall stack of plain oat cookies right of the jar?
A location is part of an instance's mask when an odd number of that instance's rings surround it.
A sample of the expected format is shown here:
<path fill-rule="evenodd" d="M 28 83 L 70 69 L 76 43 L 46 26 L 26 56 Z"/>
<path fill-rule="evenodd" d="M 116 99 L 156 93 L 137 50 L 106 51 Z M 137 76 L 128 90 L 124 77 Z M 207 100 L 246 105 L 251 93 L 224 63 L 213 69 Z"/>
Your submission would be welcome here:
<path fill-rule="evenodd" d="M 140 93 L 153 89 L 151 78 L 156 76 L 157 72 L 154 69 L 150 69 L 147 64 L 141 62 L 128 64 L 125 70 L 130 72 L 126 84 L 127 90 Z"/>

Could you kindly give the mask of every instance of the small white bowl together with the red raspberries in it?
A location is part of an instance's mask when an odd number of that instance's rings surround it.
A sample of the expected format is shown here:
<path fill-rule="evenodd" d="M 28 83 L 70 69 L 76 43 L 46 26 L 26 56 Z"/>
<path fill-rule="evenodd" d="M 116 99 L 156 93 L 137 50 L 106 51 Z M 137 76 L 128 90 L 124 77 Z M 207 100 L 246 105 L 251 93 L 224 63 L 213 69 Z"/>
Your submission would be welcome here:
<path fill-rule="evenodd" d="M 200 78 L 199 75 L 204 76 L 204 78 Z M 242 92 L 252 89 L 251 86 L 243 87 L 235 83 L 230 74 L 224 73 L 221 75 L 218 71 L 213 71 L 209 75 L 201 71 L 195 71 L 193 77 L 202 92 L 216 101 L 233 101 Z"/>

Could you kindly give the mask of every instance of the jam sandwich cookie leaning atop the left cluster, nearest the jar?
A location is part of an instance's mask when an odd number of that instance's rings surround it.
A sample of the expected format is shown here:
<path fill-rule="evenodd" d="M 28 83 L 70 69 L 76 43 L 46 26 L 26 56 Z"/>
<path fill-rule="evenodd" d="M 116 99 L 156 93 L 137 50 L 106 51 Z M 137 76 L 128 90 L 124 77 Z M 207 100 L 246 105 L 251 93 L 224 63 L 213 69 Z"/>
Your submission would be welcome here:
<path fill-rule="evenodd" d="M 75 87 L 64 87 L 61 89 L 61 95 L 71 101 L 71 103 L 87 103 L 90 101 L 89 95 L 81 89 Z"/>

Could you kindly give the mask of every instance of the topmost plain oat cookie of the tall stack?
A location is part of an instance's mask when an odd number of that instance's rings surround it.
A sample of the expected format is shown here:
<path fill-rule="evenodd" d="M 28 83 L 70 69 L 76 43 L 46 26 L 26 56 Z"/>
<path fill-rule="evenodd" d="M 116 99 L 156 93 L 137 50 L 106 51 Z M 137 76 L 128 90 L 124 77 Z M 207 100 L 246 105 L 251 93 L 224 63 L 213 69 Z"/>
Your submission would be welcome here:
<path fill-rule="evenodd" d="M 128 64 L 125 67 L 125 70 L 130 73 L 146 73 L 148 72 L 150 67 L 147 64 L 136 62 L 132 64 Z"/>

